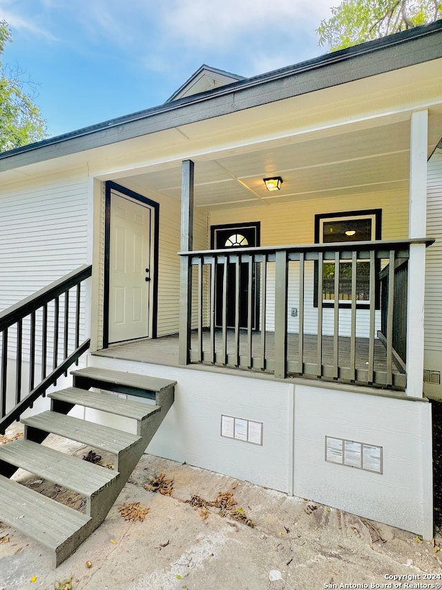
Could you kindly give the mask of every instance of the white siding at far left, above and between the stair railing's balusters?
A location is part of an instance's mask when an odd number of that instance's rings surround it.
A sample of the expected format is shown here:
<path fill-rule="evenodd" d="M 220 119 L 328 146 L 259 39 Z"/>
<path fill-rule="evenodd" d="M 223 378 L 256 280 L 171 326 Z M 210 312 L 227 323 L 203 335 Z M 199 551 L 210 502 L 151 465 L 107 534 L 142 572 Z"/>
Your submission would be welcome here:
<path fill-rule="evenodd" d="M 0 309 L 50 285 L 81 264 L 88 255 L 88 171 L 28 179 L 0 190 Z M 70 290 L 68 354 L 75 349 L 76 289 Z M 55 306 L 48 304 L 47 372 L 64 353 L 64 296 L 59 298 L 59 333 L 55 349 Z M 85 338 L 86 291 L 81 288 L 79 341 Z M 23 319 L 21 354 L 30 358 L 30 316 Z M 43 312 L 36 313 L 35 362 L 41 365 Z M 3 338 L 0 353 L 3 353 Z M 8 359 L 17 356 L 17 325 L 8 330 Z M 41 380 L 36 372 L 35 384 Z M 8 391 L 15 387 L 8 378 Z M 23 378 L 23 387 L 27 383 Z M 26 393 L 27 391 L 24 391 Z"/>

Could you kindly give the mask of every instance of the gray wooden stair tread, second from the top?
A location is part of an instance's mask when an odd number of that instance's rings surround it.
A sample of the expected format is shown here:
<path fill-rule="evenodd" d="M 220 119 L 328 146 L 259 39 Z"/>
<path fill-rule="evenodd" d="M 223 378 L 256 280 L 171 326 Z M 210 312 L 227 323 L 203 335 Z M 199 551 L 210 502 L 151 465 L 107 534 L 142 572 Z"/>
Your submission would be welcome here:
<path fill-rule="evenodd" d="M 54 391 L 48 394 L 48 397 L 61 400 L 68 403 L 100 409 L 103 412 L 126 416 L 126 418 L 135 418 L 135 420 L 144 420 L 148 416 L 160 412 L 159 405 L 125 400 L 106 391 L 87 391 L 78 387 L 68 387 L 60 391 Z"/>

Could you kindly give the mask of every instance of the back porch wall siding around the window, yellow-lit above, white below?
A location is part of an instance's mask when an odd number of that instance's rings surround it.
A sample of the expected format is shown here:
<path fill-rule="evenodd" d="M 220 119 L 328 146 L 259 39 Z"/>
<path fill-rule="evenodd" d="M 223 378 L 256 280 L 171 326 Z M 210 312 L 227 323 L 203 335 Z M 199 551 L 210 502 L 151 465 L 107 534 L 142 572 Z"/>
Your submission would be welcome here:
<path fill-rule="evenodd" d="M 221 223 L 261 222 L 261 246 L 314 243 L 314 219 L 316 214 L 345 212 L 365 209 L 382 209 L 382 238 L 401 239 L 408 231 L 408 194 L 387 192 L 370 195 L 367 198 L 354 195 L 334 199 L 314 199 L 285 205 L 270 205 L 254 208 L 236 209 L 210 213 L 211 225 Z M 291 317 L 291 308 L 299 309 L 299 270 L 298 263 L 289 265 L 289 284 L 287 302 L 287 330 L 297 333 L 299 317 Z M 267 279 L 266 329 L 273 330 L 275 315 L 274 264 L 269 264 Z M 305 264 L 305 333 L 315 334 L 318 329 L 318 309 L 314 307 L 314 264 Z M 340 335 L 350 335 L 351 310 L 340 309 Z M 380 314 L 376 313 L 376 331 L 380 329 Z M 369 311 L 356 311 L 356 336 L 367 337 L 369 331 Z M 334 333 L 334 310 L 323 309 L 323 334 Z"/>

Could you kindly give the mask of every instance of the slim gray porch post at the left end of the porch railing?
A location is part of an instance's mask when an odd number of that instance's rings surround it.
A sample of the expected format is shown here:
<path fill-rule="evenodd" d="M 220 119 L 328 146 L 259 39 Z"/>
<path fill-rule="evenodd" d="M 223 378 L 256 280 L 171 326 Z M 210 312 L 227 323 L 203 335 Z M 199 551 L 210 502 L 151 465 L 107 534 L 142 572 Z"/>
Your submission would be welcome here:
<path fill-rule="evenodd" d="M 193 168 L 183 160 L 181 185 L 181 252 L 193 248 Z M 180 365 L 189 365 L 191 348 L 192 266 L 188 256 L 180 257 Z"/>

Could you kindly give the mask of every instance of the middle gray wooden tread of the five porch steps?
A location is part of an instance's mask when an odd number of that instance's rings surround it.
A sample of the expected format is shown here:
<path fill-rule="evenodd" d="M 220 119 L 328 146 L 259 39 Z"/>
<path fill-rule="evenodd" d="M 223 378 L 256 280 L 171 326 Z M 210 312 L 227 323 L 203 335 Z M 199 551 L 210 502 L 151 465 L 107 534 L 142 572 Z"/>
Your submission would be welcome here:
<path fill-rule="evenodd" d="M 44 430 L 44 432 L 66 436 L 66 439 L 72 439 L 113 454 L 119 454 L 120 451 L 140 441 L 140 436 L 135 434 L 128 434 L 128 432 L 122 432 L 115 428 L 50 412 L 50 410 L 29 418 L 21 418 L 21 422 Z"/>

